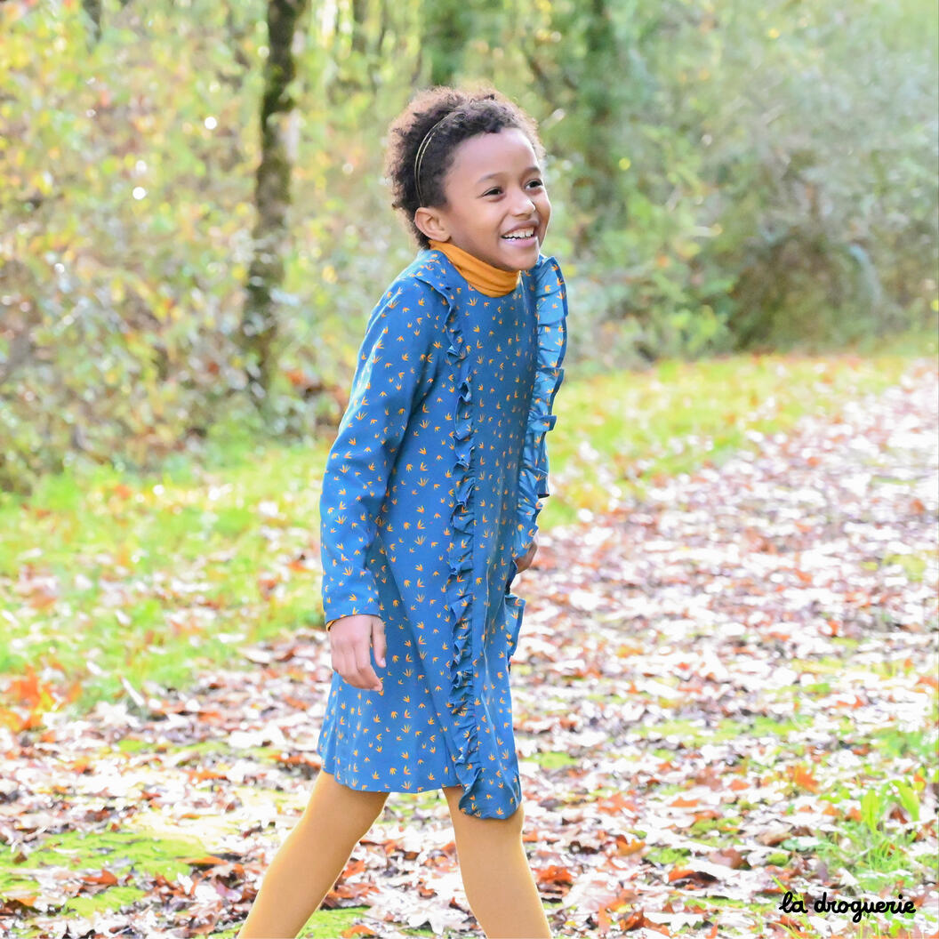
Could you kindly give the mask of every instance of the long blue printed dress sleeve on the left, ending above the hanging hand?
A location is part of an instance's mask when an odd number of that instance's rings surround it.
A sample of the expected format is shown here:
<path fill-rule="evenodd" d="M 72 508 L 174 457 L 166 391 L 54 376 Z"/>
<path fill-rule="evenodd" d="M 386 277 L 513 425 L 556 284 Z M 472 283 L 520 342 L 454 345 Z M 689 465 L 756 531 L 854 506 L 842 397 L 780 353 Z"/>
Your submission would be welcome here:
<path fill-rule="evenodd" d="M 366 560 L 410 415 L 433 385 L 438 313 L 432 289 L 414 280 L 393 285 L 369 316 L 319 500 L 327 629 L 342 616 L 381 615 Z"/>

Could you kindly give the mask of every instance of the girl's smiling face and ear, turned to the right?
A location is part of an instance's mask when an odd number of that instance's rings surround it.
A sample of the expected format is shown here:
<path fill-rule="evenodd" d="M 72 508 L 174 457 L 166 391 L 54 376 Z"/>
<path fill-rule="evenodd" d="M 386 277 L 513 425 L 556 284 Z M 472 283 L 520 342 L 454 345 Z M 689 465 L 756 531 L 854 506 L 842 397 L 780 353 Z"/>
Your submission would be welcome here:
<path fill-rule="evenodd" d="M 445 207 L 422 206 L 414 223 L 501 270 L 528 270 L 551 218 L 541 168 L 525 131 L 503 128 L 464 140 L 443 180 Z"/>

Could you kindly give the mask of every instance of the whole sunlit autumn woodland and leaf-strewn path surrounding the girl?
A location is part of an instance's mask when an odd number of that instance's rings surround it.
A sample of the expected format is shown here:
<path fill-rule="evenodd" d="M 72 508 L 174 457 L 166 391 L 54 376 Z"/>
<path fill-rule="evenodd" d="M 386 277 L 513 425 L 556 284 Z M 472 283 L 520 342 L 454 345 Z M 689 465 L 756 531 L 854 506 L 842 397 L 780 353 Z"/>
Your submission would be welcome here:
<path fill-rule="evenodd" d="M 540 122 L 570 306 L 513 656 L 553 928 L 848 928 L 793 890 L 933 934 L 937 19 L 0 2 L 0 933 L 247 914 L 321 769 L 322 468 L 416 250 L 382 135 L 484 81 Z M 395 793 L 304 935 L 475 934 L 446 812 Z"/>

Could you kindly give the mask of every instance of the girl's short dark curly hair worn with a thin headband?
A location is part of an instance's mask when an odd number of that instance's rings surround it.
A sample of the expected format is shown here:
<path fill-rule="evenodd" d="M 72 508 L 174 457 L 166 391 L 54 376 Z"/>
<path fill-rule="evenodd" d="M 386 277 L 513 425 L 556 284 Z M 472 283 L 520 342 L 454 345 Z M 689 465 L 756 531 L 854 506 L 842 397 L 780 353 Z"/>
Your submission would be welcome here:
<path fill-rule="evenodd" d="M 444 117 L 448 119 L 434 131 L 421 158 L 422 202 L 414 177 L 415 158 L 427 132 Z M 497 133 L 505 128 L 522 131 L 538 159 L 545 159 L 545 147 L 534 119 L 488 85 L 473 91 L 447 85 L 427 88 L 415 95 L 408 107 L 394 118 L 388 129 L 385 177 L 391 184 L 393 208 L 402 213 L 422 248 L 430 247 L 430 239 L 414 224 L 414 213 L 422 205 L 446 208 L 443 182 L 454 162 L 456 147 L 469 137 Z"/>

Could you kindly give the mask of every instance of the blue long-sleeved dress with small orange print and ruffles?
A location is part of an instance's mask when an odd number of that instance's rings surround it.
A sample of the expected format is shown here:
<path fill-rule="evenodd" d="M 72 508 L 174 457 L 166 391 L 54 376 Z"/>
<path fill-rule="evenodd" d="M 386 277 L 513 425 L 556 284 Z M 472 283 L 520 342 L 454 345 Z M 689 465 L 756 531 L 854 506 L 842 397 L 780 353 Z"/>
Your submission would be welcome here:
<path fill-rule="evenodd" d="M 553 257 L 489 297 L 424 249 L 369 317 L 320 499 L 327 621 L 380 617 L 382 691 L 333 672 L 317 753 L 352 789 L 521 803 L 509 658 L 516 558 L 548 495 L 567 302 Z"/>

